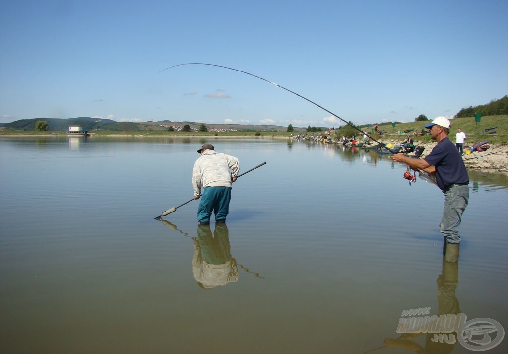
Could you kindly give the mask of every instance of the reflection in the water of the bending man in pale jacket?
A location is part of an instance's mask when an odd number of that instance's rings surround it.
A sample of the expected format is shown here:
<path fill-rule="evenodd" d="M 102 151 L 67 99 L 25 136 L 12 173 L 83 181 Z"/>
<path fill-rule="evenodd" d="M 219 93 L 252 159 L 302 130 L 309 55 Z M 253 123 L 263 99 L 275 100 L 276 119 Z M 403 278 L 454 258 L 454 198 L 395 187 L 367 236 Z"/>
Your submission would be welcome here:
<path fill-rule="evenodd" d="M 213 235 L 210 225 L 198 225 L 192 267 L 194 278 L 203 289 L 212 289 L 238 280 L 238 268 L 235 258 L 231 257 L 226 224 L 216 223 Z"/>

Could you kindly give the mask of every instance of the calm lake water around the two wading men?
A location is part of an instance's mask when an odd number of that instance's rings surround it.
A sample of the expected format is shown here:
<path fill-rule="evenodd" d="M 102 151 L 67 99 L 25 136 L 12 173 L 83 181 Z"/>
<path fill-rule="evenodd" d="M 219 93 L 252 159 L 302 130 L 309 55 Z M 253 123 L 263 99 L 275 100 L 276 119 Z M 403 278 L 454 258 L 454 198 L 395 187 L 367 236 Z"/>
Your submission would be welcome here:
<path fill-rule="evenodd" d="M 198 201 L 154 220 L 193 197 L 204 142 L 240 172 L 267 164 L 233 185 L 226 227 L 198 227 Z M 1 351 L 403 353 L 384 340 L 418 308 L 493 319 L 499 339 L 508 179 L 470 172 L 460 259 L 443 265 L 444 196 L 405 170 L 283 139 L 1 137 Z M 473 352 L 430 339 L 411 340 Z"/>

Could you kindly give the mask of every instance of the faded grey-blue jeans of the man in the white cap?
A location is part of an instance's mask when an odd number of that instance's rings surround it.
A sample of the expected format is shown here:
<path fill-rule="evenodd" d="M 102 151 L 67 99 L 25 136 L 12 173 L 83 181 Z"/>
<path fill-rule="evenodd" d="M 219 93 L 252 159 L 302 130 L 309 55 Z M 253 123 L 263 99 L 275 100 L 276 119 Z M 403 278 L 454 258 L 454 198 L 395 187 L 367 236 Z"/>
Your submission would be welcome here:
<path fill-rule="evenodd" d="M 468 185 L 452 187 L 444 193 L 444 209 L 439 230 L 447 243 L 460 243 L 459 226 L 468 200 Z"/>

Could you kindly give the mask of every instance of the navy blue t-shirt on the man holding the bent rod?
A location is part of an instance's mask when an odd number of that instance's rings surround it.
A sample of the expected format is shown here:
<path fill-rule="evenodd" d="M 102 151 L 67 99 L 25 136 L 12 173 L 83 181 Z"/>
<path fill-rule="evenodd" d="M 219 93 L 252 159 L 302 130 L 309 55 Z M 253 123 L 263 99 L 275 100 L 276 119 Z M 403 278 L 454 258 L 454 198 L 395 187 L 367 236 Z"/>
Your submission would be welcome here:
<path fill-rule="evenodd" d="M 441 190 L 453 184 L 469 183 L 464 161 L 448 137 L 441 139 L 424 160 L 435 166 L 436 183 Z"/>

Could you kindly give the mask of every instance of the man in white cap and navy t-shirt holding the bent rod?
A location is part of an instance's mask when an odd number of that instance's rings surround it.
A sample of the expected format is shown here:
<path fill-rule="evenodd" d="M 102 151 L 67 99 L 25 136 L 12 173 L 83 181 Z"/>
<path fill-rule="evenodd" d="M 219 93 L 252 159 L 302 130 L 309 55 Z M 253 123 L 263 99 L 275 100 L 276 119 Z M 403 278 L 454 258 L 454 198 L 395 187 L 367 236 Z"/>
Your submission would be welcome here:
<path fill-rule="evenodd" d="M 459 257 L 459 225 L 469 200 L 469 176 L 457 147 L 448 137 L 451 127 L 448 119 L 437 117 L 425 125 L 430 131 L 430 137 L 437 142 L 429 155 L 421 160 L 396 154 L 392 160 L 435 176 L 437 186 L 444 193 L 444 210 L 439 224 L 446 242 L 444 259 L 456 262 Z"/>

